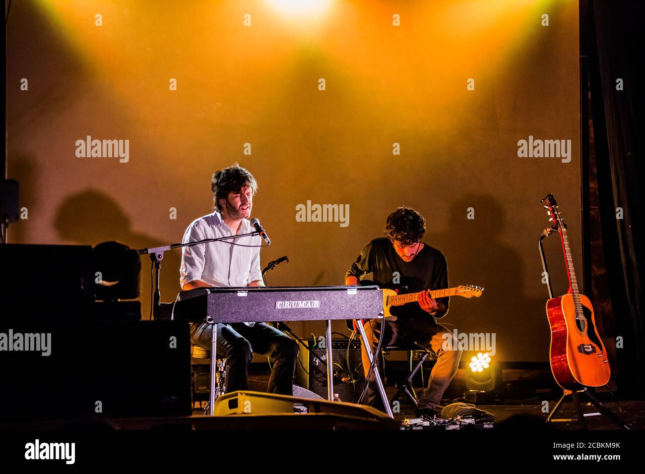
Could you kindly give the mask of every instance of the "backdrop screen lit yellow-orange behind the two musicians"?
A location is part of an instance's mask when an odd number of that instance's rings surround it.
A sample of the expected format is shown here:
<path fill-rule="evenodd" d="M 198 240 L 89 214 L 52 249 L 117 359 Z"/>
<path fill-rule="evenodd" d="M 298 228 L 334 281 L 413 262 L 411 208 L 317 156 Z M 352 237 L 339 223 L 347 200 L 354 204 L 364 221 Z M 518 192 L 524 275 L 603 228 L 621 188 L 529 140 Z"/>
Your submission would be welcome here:
<path fill-rule="evenodd" d="M 442 324 L 494 334 L 497 360 L 548 360 L 549 192 L 582 270 L 578 25 L 578 3 L 555 0 L 14 2 L 8 177 L 25 209 L 9 241 L 179 242 L 212 212 L 212 173 L 237 162 L 259 183 L 263 266 L 290 260 L 270 285 L 342 284 L 387 215 L 411 206 L 451 286 L 484 287 L 453 298 Z M 88 136 L 121 141 L 123 156 L 79 157 Z M 540 153 L 541 141 L 553 142 Z M 308 201 L 349 213 L 299 222 Z M 557 237 L 547 249 L 564 293 Z M 166 253 L 162 301 L 180 257 Z M 50 277 L 34 268 L 31 283 Z"/>

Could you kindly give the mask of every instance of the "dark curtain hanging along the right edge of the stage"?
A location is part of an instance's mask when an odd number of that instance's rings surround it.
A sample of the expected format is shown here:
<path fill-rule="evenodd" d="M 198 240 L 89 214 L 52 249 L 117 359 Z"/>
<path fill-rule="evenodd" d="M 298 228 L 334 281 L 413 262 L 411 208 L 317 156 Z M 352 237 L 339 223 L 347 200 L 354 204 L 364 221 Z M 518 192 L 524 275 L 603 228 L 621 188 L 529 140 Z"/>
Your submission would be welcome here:
<path fill-rule="evenodd" d="M 622 398 L 645 397 L 644 13 L 641 1 L 581 0 L 585 288 L 600 299 L 605 341 L 622 337 L 608 348 Z"/>

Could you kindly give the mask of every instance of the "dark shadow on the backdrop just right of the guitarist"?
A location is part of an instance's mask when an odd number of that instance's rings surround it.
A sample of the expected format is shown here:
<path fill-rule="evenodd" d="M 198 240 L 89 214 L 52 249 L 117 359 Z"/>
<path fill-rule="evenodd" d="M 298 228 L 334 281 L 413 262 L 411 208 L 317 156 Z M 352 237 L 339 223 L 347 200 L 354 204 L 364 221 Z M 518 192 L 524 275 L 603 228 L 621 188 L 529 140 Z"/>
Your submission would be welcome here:
<path fill-rule="evenodd" d="M 467 218 L 468 208 L 474 208 L 474 219 Z M 447 232 L 432 233 L 432 224 L 427 225 L 431 232 L 424 241 L 446 256 L 450 286 L 484 287 L 479 299 L 453 298 L 446 323 L 452 323 L 460 333 L 495 333 L 497 360 L 547 361 L 547 294 L 545 291 L 544 299 L 536 299 L 525 293 L 522 257 L 504 242 L 509 224 L 501 202 L 490 195 L 465 195 L 450 206 Z M 539 257 L 537 260 L 535 278 L 541 274 Z M 533 322 L 524 324 L 521 320 L 526 318 Z"/>

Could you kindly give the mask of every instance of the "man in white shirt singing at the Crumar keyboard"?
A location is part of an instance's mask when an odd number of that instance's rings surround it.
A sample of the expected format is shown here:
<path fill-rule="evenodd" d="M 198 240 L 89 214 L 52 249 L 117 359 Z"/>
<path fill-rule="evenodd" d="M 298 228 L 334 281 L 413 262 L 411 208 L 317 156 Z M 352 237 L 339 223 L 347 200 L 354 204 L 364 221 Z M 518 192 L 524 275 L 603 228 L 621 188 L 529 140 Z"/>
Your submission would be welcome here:
<path fill-rule="evenodd" d="M 211 190 L 215 212 L 195 219 L 186 229 L 183 243 L 253 230 L 248 217 L 257 182 L 248 170 L 233 164 L 214 173 Z M 260 270 L 261 242 L 262 238 L 256 235 L 184 247 L 179 269 L 181 288 L 264 286 Z M 190 337 L 195 344 L 210 349 L 212 324 L 191 324 Z M 226 357 L 228 366 L 226 391 L 248 390 L 253 352 L 275 360 L 267 391 L 292 395 L 298 344 L 264 322 L 217 324 L 217 353 Z"/>

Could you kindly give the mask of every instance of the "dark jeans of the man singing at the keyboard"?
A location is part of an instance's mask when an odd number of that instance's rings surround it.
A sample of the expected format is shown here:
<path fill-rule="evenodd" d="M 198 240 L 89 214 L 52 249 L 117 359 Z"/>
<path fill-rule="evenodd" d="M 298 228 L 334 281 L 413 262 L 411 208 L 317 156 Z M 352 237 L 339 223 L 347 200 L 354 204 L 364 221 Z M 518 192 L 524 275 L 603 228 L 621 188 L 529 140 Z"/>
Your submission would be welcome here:
<path fill-rule="evenodd" d="M 190 325 L 190 339 L 210 350 L 213 325 Z M 253 352 L 273 357 L 268 393 L 293 395 L 293 373 L 298 360 L 298 343 L 264 322 L 246 326 L 243 322 L 217 324 L 217 354 L 226 357 L 226 391 L 248 390 L 248 370 Z"/>

